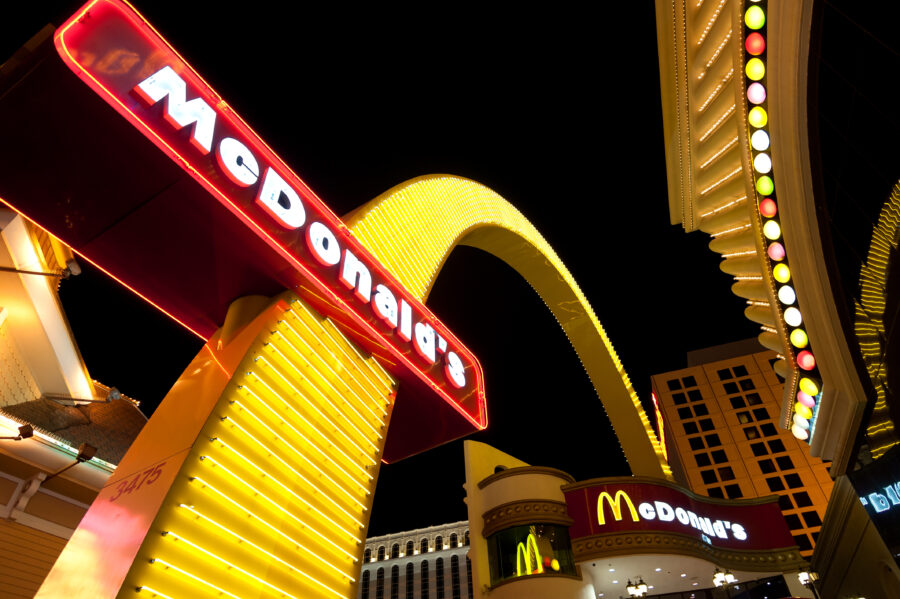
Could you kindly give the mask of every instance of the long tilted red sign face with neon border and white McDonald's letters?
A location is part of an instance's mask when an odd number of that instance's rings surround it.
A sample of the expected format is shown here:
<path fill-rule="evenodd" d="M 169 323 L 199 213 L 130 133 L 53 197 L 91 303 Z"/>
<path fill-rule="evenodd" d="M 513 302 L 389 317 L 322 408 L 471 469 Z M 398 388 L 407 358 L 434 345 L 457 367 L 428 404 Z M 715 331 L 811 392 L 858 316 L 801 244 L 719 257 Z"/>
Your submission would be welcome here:
<path fill-rule="evenodd" d="M 354 332 L 487 426 L 475 356 L 130 5 L 93 0 L 54 42 L 82 81 L 300 275 L 306 297 L 349 316 Z"/>

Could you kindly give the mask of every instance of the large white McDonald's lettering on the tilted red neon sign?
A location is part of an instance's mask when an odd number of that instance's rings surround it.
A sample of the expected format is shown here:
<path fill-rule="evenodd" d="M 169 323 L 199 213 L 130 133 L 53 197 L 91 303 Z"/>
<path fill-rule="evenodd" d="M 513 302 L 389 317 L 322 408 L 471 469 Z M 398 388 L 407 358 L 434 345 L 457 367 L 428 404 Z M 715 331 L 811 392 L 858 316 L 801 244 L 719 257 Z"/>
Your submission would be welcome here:
<path fill-rule="evenodd" d="M 159 69 L 134 86 L 132 92 L 148 106 L 164 100 L 163 118 L 166 122 L 176 130 L 192 126 L 190 143 L 203 155 L 212 151 L 218 113 L 202 97 L 188 101 L 187 82 L 172 67 Z M 281 227 L 297 231 L 298 238 L 294 243 L 302 243 L 299 239 L 301 232 L 298 230 L 307 224 L 307 214 L 304 200 L 297 188 L 272 166 L 260 164 L 253 150 L 241 139 L 223 136 L 218 141 L 215 156 L 215 162 L 224 177 L 214 178 L 214 185 L 218 187 L 220 182 L 230 182 L 239 188 L 258 185 L 255 205 Z M 312 206 L 315 207 L 314 204 Z M 316 212 L 313 211 L 312 214 L 315 215 Z M 424 319 L 420 321 L 418 314 L 414 318 L 412 306 L 402 297 L 398 301 L 398 294 L 394 290 L 373 280 L 369 265 L 351 249 L 341 248 L 338 237 L 328 225 L 314 220 L 314 217 L 311 220 L 302 236 L 312 258 L 328 269 L 339 265 L 336 273 L 332 270 L 332 276 L 337 278 L 340 286 L 352 290 L 356 299 L 370 306 L 372 314 L 384 323 L 397 340 L 411 343 L 410 353 L 418 355 L 418 359 L 426 367 L 430 368 L 435 364 L 438 354 L 442 354 L 447 383 L 456 389 L 465 387 L 465 363 L 448 347 L 447 340 Z M 337 288 L 338 286 L 333 287 Z"/>

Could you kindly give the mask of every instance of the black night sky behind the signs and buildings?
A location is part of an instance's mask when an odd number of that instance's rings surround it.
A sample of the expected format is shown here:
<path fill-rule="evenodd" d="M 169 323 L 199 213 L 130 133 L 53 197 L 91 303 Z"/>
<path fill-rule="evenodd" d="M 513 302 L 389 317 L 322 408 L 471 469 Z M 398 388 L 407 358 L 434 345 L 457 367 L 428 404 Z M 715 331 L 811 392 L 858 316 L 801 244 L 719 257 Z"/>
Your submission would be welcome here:
<path fill-rule="evenodd" d="M 755 336 L 708 236 L 669 224 L 651 0 L 599 16 L 320 4 L 135 2 L 338 214 L 428 173 L 504 196 L 573 273 L 645 404 L 650 375 L 688 350 Z M 0 62 L 78 6 L 21 6 Z M 148 412 L 200 348 L 87 268 L 61 297 L 91 375 Z M 628 473 L 574 350 L 511 268 L 459 248 L 428 305 L 484 367 L 491 424 L 474 439 L 578 479 Z M 370 534 L 466 518 L 463 482 L 461 442 L 383 468 Z"/>

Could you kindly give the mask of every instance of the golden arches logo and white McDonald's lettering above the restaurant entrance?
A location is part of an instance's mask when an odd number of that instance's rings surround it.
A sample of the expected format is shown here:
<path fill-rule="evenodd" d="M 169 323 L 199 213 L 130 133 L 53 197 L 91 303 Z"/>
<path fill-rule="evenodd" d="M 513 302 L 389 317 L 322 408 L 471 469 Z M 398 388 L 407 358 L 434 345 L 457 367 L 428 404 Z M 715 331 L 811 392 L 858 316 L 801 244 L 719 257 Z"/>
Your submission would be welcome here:
<path fill-rule="evenodd" d="M 597 524 L 599 526 L 607 524 L 604 504 L 609 504 L 615 521 L 621 522 L 623 518 L 623 503 L 631 513 L 633 522 L 640 520 L 645 522 L 656 520 L 662 523 L 671 522 L 673 524 L 677 522 L 682 526 L 689 526 L 700 531 L 707 542 L 710 542 L 710 539 L 713 537 L 719 539 L 731 538 L 736 541 L 747 540 L 747 529 L 742 524 L 728 520 L 713 520 L 683 507 L 672 507 L 664 501 L 654 501 L 652 503 L 645 501 L 635 509 L 631 497 L 622 489 L 617 490 L 615 494 L 612 494 L 610 491 L 601 491 L 597 497 Z"/>

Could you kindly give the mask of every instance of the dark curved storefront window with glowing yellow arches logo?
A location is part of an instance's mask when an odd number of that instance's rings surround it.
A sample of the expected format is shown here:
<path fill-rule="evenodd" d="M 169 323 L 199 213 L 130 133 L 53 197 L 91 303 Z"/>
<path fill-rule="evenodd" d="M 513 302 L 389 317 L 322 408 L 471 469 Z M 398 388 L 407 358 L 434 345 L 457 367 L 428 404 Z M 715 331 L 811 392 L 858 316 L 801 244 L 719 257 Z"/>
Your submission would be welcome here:
<path fill-rule="evenodd" d="M 491 584 L 518 576 L 575 576 L 569 530 L 556 524 L 514 526 L 488 538 Z"/>

